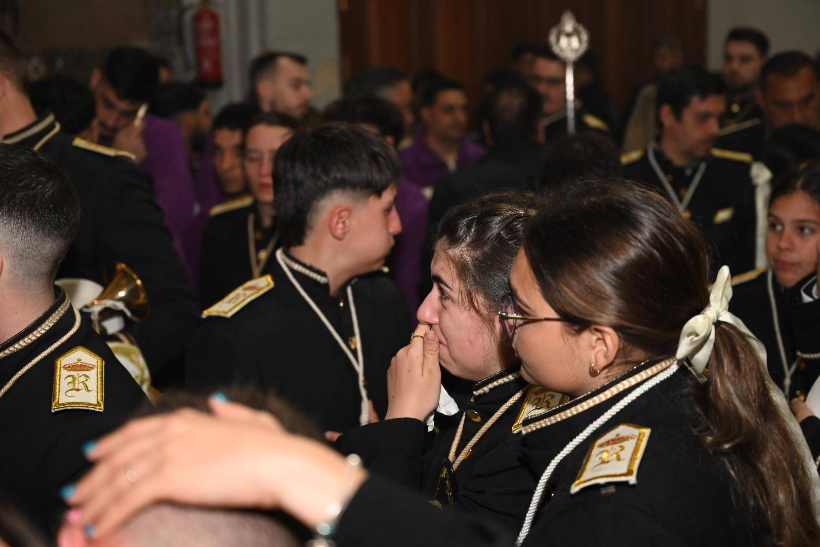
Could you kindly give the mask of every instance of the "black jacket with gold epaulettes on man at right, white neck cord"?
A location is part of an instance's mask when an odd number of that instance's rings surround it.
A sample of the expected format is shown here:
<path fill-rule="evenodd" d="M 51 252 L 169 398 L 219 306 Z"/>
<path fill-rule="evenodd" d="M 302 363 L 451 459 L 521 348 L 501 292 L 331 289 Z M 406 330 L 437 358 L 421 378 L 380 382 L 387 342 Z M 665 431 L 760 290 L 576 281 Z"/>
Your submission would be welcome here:
<path fill-rule="evenodd" d="M 671 199 L 652 165 L 658 164 L 677 198 L 689 191 L 701 162 L 706 168 L 684 215 L 697 222 L 712 250 L 712 269 L 727 264 L 731 271 L 749 271 L 754 267 L 754 235 L 757 219 L 754 209 L 754 185 L 749 171 L 751 158 L 745 154 L 713 149 L 711 157 L 694 165 L 675 166 L 657 146 L 641 148 L 622 155 L 624 177 L 654 186 Z"/>

